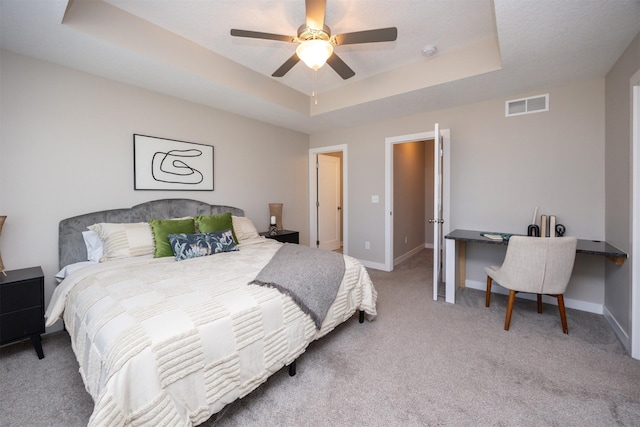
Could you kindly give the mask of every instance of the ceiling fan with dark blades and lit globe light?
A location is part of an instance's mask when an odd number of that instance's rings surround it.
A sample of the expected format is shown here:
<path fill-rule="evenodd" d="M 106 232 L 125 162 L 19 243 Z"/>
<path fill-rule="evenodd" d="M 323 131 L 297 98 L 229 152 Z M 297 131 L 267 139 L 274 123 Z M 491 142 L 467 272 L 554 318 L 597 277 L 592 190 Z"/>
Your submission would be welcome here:
<path fill-rule="evenodd" d="M 284 76 L 302 59 L 309 68 L 314 70 L 327 63 L 345 80 L 353 77 L 356 73 L 333 51 L 334 46 L 394 41 L 398 37 L 398 29 L 396 27 L 356 31 L 332 36 L 331 30 L 324 23 L 326 5 L 326 0 L 305 0 L 306 20 L 298 28 L 297 36 L 283 36 L 237 29 L 232 29 L 231 35 L 298 43 L 296 53 L 272 74 L 273 77 Z"/>

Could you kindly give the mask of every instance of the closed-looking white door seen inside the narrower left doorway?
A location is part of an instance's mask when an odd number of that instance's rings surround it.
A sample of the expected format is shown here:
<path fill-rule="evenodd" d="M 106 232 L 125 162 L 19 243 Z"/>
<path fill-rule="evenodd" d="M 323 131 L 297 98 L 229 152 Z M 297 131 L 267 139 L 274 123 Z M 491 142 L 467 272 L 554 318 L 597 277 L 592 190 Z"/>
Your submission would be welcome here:
<path fill-rule="evenodd" d="M 340 158 L 318 154 L 318 246 L 340 249 Z"/>

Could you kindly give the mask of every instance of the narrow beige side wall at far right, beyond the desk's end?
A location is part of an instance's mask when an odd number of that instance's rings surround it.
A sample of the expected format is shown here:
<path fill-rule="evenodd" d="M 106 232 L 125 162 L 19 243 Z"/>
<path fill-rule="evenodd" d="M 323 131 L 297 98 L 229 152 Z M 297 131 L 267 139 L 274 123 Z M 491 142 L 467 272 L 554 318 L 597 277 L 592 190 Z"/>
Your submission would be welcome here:
<path fill-rule="evenodd" d="M 606 237 L 631 251 L 631 77 L 640 70 L 640 34 L 606 76 Z M 631 261 L 622 267 L 607 264 L 605 306 L 622 341 L 631 333 Z"/>

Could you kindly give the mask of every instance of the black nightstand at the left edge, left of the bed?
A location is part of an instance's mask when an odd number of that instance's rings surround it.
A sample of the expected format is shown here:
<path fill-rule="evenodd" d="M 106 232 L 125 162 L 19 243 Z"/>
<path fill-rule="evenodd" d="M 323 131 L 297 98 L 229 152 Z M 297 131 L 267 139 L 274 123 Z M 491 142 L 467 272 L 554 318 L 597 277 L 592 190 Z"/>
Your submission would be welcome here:
<path fill-rule="evenodd" d="M 44 358 L 40 334 L 44 333 L 44 274 L 41 267 L 0 273 L 0 345 L 31 338 Z"/>

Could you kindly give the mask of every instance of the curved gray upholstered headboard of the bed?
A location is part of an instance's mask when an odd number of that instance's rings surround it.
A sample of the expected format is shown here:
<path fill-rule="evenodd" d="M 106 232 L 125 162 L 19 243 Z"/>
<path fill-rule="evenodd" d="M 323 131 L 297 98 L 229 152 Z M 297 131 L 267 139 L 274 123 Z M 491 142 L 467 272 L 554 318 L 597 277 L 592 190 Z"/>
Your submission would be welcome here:
<path fill-rule="evenodd" d="M 75 262 L 87 260 L 87 249 L 82 232 L 87 230 L 87 226 L 98 222 L 143 222 L 150 219 L 216 215 L 225 212 L 231 212 L 235 216 L 244 216 L 242 209 L 231 206 L 210 205 L 189 199 L 163 199 L 142 203 L 132 208 L 92 212 L 63 219 L 60 221 L 58 234 L 59 266 L 62 268 Z"/>

